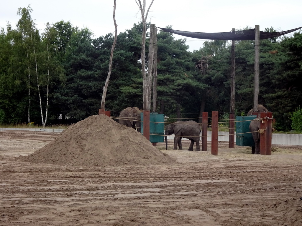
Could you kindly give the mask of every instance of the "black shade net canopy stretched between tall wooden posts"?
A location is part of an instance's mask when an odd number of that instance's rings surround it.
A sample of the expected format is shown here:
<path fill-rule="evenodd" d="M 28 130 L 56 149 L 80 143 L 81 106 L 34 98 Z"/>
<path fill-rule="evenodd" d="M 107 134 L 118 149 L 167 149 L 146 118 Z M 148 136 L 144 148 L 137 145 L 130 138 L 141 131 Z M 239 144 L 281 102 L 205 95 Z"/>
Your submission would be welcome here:
<path fill-rule="evenodd" d="M 182 35 L 195 39 L 210 39 L 210 40 L 224 40 L 224 41 L 243 41 L 243 40 L 255 40 L 255 28 L 249 30 L 235 31 L 235 32 L 217 32 L 217 33 L 204 33 L 204 32 L 191 32 L 191 31 L 179 31 L 174 29 L 167 29 L 162 27 L 157 27 L 164 32 L 174 33 L 177 35 Z M 260 31 L 260 39 L 275 38 L 281 35 L 285 35 L 302 27 L 294 28 L 287 31 L 280 32 L 264 32 Z"/>

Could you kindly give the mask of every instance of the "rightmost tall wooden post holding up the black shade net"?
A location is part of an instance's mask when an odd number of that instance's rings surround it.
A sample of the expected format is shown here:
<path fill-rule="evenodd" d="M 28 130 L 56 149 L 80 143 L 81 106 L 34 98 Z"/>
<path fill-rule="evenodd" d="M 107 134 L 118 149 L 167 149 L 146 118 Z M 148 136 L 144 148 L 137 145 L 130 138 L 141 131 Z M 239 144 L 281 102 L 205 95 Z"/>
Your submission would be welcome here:
<path fill-rule="evenodd" d="M 255 65 L 254 65 L 254 106 L 253 111 L 257 111 L 259 97 L 259 44 L 260 44 L 260 29 L 259 25 L 255 25 Z"/>

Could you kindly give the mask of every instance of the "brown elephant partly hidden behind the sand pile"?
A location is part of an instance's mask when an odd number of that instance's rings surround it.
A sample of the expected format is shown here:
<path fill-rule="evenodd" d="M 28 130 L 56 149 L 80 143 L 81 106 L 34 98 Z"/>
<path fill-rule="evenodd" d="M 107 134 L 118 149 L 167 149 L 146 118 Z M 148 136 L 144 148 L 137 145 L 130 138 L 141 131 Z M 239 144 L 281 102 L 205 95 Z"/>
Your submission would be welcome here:
<path fill-rule="evenodd" d="M 141 112 L 143 112 L 143 110 L 140 110 L 137 107 L 125 108 L 123 111 L 120 112 L 120 118 L 118 119 L 118 123 L 132 128 L 137 127 L 137 131 L 140 132 Z"/>

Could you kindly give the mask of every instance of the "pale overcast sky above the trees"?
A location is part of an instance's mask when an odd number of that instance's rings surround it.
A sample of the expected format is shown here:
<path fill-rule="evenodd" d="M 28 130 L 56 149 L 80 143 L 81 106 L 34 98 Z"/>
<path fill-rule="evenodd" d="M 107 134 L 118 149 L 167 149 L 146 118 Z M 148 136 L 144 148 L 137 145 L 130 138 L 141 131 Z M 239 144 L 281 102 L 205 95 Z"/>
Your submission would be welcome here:
<path fill-rule="evenodd" d="M 142 0 L 143 1 L 143 0 Z M 117 32 L 131 29 L 140 22 L 140 12 L 135 0 L 117 0 L 115 18 Z M 146 0 L 149 7 L 151 0 Z M 73 26 L 88 27 L 94 37 L 114 33 L 113 0 L 10 0 L 2 1 L 0 27 L 7 22 L 15 27 L 20 19 L 17 10 L 31 4 L 31 13 L 37 28 L 44 31 L 45 24 L 60 20 L 70 21 Z M 301 0 L 154 0 L 148 22 L 156 27 L 172 25 L 175 30 L 192 32 L 227 32 L 232 28 L 243 30 L 249 26 L 273 27 L 285 31 L 302 26 Z M 186 37 L 174 35 L 176 39 Z M 190 51 L 200 49 L 203 39 L 187 38 Z"/>

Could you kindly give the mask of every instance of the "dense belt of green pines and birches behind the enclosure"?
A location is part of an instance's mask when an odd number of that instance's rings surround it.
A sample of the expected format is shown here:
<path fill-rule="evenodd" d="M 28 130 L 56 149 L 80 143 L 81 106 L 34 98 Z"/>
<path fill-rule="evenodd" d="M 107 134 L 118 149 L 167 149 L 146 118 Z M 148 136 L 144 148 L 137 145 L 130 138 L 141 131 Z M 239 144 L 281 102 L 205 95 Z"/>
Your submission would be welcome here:
<path fill-rule="evenodd" d="M 92 38 L 89 28 L 66 21 L 47 24 L 40 33 L 31 11 L 19 8 L 17 28 L 7 24 L 0 32 L 2 122 L 46 123 L 46 110 L 48 124 L 69 124 L 98 114 L 113 34 Z M 142 33 L 139 22 L 117 35 L 106 96 L 106 110 L 112 115 L 127 107 L 143 108 Z M 148 65 L 148 33 L 146 37 L 143 60 Z M 202 111 L 228 114 L 230 42 L 208 40 L 190 52 L 186 39 L 163 31 L 157 38 L 157 111 L 175 118 L 198 118 Z M 253 106 L 254 45 L 255 41 L 236 41 L 235 108 L 240 115 Z M 260 41 L 259 104 L 273 112 L 277 130 L 291 130 L 291 112 L 302 105 L 301 46 L 300 31 Z"/>

